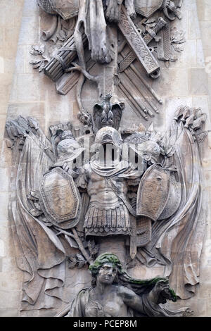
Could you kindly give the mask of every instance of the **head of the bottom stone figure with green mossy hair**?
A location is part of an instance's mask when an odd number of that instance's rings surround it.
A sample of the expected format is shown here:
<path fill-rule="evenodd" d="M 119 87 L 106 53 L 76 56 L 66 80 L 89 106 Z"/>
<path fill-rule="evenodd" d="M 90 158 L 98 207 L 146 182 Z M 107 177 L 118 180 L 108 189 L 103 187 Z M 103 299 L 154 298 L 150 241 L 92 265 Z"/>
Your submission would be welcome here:
<path fill-rule="evenodd" d="M 92 285 L 96 285 L 96 281 L 103 284 L 111 285 L 117 283 L 118 274 L 122 274 L 122 265 L 120 259 L 110 253 L 101 254 L 96 258 L 94 264 L 89 266 L 93 277 Z"/>

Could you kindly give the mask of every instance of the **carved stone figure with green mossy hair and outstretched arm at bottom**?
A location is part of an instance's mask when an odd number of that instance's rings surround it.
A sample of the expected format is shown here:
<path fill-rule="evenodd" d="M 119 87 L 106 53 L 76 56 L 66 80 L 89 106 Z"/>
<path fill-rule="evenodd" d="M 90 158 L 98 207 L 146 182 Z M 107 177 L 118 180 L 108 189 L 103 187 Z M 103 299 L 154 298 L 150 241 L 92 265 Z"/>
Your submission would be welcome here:
<path fill-rule="evenodd" d="M 176 298 L 168 280 L 134 280 L 122 270 L 114 254 L 101 254 L 89 269 L 92 286 L 82 289 L 57 317 L 179 317 L 191 313 L 188 308 L 174 312 L 161 308 L 160 304 L 165 304 L 167 299 L 175 301 Z"/>

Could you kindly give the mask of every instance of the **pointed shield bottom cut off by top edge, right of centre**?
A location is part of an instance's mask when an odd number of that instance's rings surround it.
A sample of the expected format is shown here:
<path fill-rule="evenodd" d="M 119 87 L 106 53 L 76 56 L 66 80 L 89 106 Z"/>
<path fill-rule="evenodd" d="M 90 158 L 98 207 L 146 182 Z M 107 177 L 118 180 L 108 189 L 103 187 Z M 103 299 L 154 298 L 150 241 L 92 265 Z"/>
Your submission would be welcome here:
<path fill-rule="evenodd" d="M 136 12 L 148 18 L 162 6 L 163 0 L 135 0 Z"/>

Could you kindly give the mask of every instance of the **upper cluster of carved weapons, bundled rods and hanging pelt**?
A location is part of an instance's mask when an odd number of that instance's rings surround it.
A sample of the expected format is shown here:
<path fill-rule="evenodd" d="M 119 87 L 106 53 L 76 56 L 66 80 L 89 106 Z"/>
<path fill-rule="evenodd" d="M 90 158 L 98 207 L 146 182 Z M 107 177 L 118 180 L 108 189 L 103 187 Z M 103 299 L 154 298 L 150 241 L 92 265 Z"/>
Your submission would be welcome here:
<path fill-rule="evenodd" d="M 159 112 L 162 100 L 136 63 L 156 79 L 160 76 L 158 61 L 165 61 L 167 66 L 177 61 L 176 54 L 185 42 L 184 32 L 176 27 L 171 30 L 170 25 L 172 20 L 181 19 L 182 1 L 46 0 L 38 4 L 51 15 L 51 27 L 42 33 L 45 44 L 32 46 L 31 54 L 41 59 L 30 63 L 56 82 L 59 94 L 67 94 L 77 85 L 80 113 L 87 112 L 81 96 L 86 79 L 96 82 L 100 103 L 108 94 L 116 102 L 119 90 L 144 120 Z M 44 16 L 44 23 L 47 19 Z M 94 77 L 88 72 L 96 68 L 96 63 L 103 63 L 103 67 Z M 105 75 L 109 84 L 105 84 Z M 131 80 L 141 96 L 138 103 L 129 88 Z"/>

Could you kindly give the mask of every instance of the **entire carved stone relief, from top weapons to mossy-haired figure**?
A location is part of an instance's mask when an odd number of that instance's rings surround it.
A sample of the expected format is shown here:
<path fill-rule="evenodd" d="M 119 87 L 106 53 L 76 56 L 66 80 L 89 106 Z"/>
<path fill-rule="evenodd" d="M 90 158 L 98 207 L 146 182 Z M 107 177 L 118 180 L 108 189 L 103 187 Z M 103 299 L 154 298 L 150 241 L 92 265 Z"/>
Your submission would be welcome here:
<path fill-rule="evenodd" d="M 143 125 L 162 104 L 149 80 L 159 79 L 159 61 L 176 61 L 185 41 L 184 32 L 170 28 L 181 20 L 183 1 L 37 2 L 52 24 L 42 35 L 47 46 L 32 47 L 41 56 L 32 64 L 58 93 L 76 88 L 81 125 L 51 125 L 47 139 L 35 118 L 6 123 L 21 310 L 62 302 L 69 305 L 58 316 L 183 316 L 186 308 L 160 304 L 188 299 L 199 282 L 206 116 L 180 106 L 165 132 Z M 94 66 L 98 75 L 89 73 Z M 98 87 L 92 109 L 82 101 L 85 79 Z M 120 125 L 125 102 L 141 118 L 132 128 Z M 128 275 L 134 263 L 163 266 L 164 275 L 136 280 Z M 70 304 L 72 270 L 90 285 L 87 268 L 94 283 Z"/>

